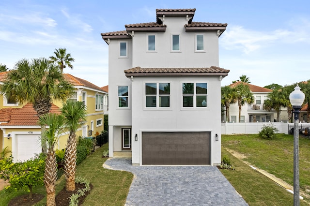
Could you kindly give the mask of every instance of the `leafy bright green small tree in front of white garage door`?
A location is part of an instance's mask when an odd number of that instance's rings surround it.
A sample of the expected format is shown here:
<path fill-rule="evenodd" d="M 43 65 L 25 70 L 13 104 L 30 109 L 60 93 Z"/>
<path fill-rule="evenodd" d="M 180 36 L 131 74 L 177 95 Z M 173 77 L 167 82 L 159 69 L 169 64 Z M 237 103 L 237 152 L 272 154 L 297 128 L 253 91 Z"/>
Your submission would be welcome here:
<path fill-rule="evenodd" d="M 26 162 L 13 162 L 12 156 L 0 160 L 0 179 L 9 180 L 6 191 L 17 191 L 28 187 L 29 198 L 32 188 L 43 185 L 45 156 L 37 155 Z"/>

